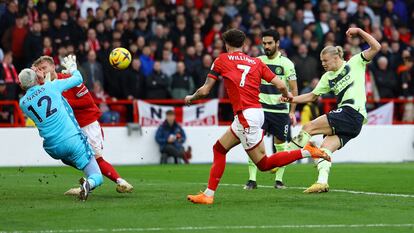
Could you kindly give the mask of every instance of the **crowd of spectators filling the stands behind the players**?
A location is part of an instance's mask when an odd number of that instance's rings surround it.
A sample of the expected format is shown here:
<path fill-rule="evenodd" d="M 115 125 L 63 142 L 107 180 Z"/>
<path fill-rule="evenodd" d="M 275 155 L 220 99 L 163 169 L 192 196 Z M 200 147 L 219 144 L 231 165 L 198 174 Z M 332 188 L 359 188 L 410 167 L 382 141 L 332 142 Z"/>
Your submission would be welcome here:
<path fill-rule="evenodd" d="M 75 53 L 97 98 L 182 99 L 204 83 L 228 28 L 247 33 L 251 56 L 262 54 L 261 32 L 275 28 L 299 91 L 309 91 L 323 74 L 324 46 L 343 46 L 346 59 L 367 47 L 345 36 L 360 27 L 382 45 L 367 69 L 368 98 L 412 98 L 413 22 L 414 2 L 404 0 L 0 0 L 0 91 L 2 99 L 18 99 L 22 68 L 49 55 L 60 69 Z M 109 65 L 116 47 L 131 51 L 126 70 Z M 210 97 L 226 98 L 222 82 Z"/>

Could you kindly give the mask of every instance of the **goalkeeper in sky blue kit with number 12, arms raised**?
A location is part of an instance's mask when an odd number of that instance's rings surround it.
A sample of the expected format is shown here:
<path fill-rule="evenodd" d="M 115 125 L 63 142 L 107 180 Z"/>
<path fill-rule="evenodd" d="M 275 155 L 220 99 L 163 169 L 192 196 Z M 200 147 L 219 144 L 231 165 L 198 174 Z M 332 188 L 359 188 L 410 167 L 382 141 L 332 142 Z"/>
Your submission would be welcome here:
<path fill-rule="evenodd" d="M 52 158 L 84 171 L 87 179 L 80 180 L 79 198 L 86 200 L 89 191 L 101 185 L 103 178 L 94 152 L 76 122 L 72 108 L 62 96 L 63 91 L 83 81 L 75 56 L 65 57 L 63 66 L 72 77 L 43 85 L 38 84 L 35 71 L 22 70 L 19 80 L 26 94 L 20 99 L 20 108 L 35 122 L 43 138 L 43 148 Z"/>

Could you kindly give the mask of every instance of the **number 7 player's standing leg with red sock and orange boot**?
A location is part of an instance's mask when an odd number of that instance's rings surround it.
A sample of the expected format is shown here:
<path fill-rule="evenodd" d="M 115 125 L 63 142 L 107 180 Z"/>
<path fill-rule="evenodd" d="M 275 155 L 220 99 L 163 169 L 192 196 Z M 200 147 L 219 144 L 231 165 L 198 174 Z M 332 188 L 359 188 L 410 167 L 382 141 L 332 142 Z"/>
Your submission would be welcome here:
<path fill-rule="evenodd" d="M 203 193 L 188 195 L 187 199 L 189 201 L 195 204 L 213 204 L 215 191 L 226 167 L 226 154 L 239 143 L 240 140 L 232 133 L 230 128 L 217 140 L 213 146 L 214 159 L 207 188 Z"/>

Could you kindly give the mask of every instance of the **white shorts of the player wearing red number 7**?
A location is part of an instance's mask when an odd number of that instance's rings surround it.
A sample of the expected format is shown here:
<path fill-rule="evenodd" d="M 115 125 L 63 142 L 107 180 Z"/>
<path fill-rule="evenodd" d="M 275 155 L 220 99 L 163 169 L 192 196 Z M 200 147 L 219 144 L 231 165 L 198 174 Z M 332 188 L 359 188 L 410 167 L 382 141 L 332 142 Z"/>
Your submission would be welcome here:
<path fill-rule="evenodd" d="M 249 108 L 234 116 L 230 129 L 234 136 L 240 140 L 243 148 L 248 151 L 262 142 L 263 122 L 263 110 L 261 108 Z"/>

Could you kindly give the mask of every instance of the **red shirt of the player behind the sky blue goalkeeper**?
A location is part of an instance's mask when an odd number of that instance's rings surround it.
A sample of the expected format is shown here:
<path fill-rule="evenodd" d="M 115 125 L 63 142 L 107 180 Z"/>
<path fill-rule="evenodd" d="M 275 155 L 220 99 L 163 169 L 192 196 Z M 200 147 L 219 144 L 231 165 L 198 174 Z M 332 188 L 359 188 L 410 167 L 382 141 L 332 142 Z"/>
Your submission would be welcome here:
<path fill-rule="evenodd" d="M 70 74 L 58 73 L 58 79 L 65 79 L 70 76 Z M 82 83 L 79 86 L 64 91 L 62 95 L 72 107 L 75 118 L 81 128 L 97 121 L 101 117 L 101 111 L 96 106 L 85 84 Z"/>

